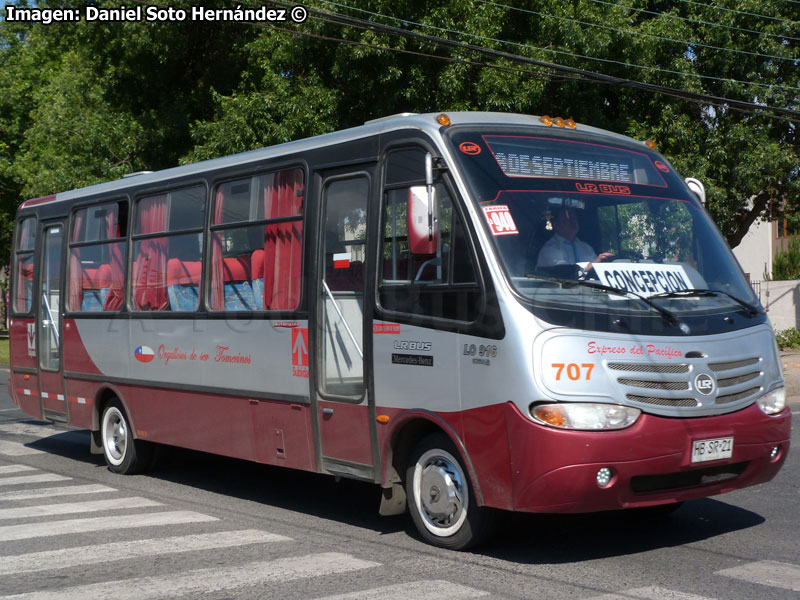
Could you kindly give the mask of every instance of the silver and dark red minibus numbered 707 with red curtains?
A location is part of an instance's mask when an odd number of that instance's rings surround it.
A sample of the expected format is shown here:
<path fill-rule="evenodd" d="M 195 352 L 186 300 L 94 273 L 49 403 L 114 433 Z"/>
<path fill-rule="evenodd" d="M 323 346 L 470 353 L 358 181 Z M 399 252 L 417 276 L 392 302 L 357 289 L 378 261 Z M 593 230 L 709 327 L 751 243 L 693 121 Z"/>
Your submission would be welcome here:
<path fill-rule="evenodd" d="M 9 387 L 108 468 L 177 446 L 374 482 L 463 549 L 503 511 L 772 479 L 772 327 L 651 141 L 453 112 L 24 202 Z"/>

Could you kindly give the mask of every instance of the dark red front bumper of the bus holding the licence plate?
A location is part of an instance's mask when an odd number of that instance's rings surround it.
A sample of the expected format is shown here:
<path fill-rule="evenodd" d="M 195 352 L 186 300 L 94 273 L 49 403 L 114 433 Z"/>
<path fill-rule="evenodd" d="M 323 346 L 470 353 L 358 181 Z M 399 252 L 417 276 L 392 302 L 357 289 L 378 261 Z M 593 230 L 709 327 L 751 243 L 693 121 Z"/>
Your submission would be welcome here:
<path fill-rule="evenodd" d="M 594 512 L 705 498 L 772 479 L 789 451 L 791 411 L 765 415 L 755 404 L 695 419 L 644 414 L 622 431 L 563 431 L 506 406 L 513 509 Z M 733 437 L 729 459 L 691 462 L 695 440 Z M 773 448 L 778 455 L 770 456 Z M 610 468 L 608 485 L 597 472 Z"/>

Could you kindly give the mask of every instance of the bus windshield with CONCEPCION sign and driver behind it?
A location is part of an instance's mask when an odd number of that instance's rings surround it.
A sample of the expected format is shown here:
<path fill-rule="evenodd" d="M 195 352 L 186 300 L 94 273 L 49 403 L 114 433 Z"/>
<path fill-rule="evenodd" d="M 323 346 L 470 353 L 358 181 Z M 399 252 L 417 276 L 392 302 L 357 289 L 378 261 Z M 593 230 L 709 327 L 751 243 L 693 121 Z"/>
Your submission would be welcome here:
<path fill-rule="evenodd" d="M 538 128 L 454 128 L 450 140 L 509 280 L 534 304 L 652 310 L 593 282 L 684 315 L 741 309 L 728 294 L 758 305 L 716 227 L 658 154 Z M 590 283 L 565 285 L 580 281 Z"/>

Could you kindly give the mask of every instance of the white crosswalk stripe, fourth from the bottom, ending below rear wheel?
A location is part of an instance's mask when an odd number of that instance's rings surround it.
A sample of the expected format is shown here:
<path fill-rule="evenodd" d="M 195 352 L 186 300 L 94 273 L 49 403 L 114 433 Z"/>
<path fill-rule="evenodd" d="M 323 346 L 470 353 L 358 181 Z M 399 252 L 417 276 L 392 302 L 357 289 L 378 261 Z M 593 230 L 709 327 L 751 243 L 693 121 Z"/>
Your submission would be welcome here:
<path fill-rule="evenodd" d="M 45 521 L 43 523 L 26 523 L 24 525 L 4 525 L 0 527 L 0 542 L 28 540 L 31 538 L 50 537 L 53 535 L 69 535 L 104 529 L 135 529 L 137 527 L 163 527 L 183 523 L 202 523 L 219 521 L 190 511 L 173 511 L 150 513 L 143 515 L 120 515 L 116 517 L 91 517 L 88 519 L 69 519 L 66 521 Z"/>

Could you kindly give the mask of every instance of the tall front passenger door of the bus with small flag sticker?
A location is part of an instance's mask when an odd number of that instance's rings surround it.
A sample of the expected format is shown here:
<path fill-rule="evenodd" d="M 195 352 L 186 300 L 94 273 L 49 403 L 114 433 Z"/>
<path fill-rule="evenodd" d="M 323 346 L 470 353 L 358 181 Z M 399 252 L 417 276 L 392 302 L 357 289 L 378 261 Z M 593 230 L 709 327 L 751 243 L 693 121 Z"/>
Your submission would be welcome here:
<path fill-rule="evenodd" d="M 373 300 L 367 289 L 367 219 L 373 177 L 367 171 L 323 178 L 322 239 L 311 356 L 317 361 L 312 395 L 322 467 L 372 480 L 377 439 L 365 328 Z M 366 318 L 365 318 L 366 315 Z M 367 342 L 368 348 L 365 348 Z"/>

